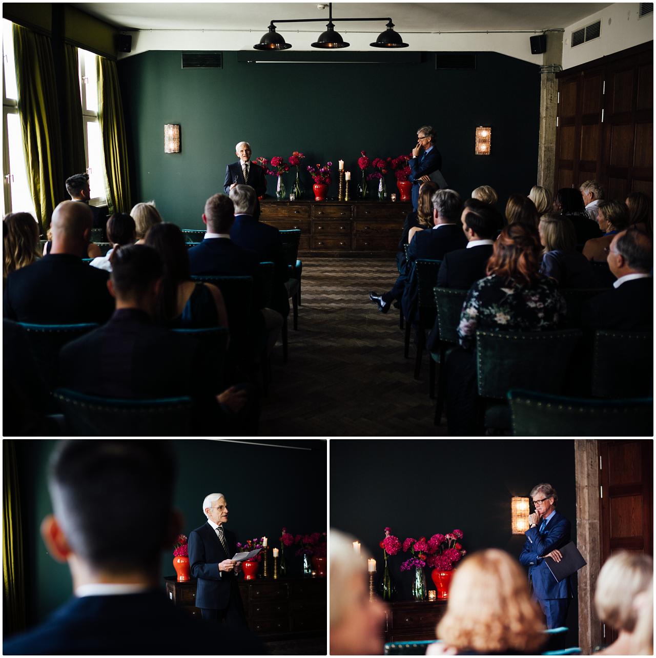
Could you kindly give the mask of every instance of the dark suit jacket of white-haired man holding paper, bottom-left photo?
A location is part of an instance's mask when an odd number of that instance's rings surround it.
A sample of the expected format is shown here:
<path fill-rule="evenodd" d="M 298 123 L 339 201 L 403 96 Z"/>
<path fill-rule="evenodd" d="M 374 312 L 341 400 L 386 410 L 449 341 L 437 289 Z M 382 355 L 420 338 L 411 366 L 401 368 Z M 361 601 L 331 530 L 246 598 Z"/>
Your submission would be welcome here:
<path fill-rule="evenodd" d="M 227 528 L 223 530 L 228 551 L 226 555 L 214 528 L 208 523 L 189 532 L 189 570 L 191 578 L 197 578 L 196 607 L 223 610 L 231 597 L 240 597 L 237 576 L 234 571 L 220 572 L 218 564 L 232 559 L 237 552 L 237 538 Z"/>

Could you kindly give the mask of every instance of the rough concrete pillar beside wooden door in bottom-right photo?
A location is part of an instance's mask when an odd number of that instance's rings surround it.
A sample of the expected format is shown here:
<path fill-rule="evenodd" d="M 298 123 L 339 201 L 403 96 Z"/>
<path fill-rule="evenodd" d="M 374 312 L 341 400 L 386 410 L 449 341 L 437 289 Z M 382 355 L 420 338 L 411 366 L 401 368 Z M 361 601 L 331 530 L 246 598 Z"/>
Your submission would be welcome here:
<path fill-rule="evenodd" d="M 599 448 L 596 440 L 574 441 L 576 472 L 576 547 L 588 563 L 578 572 L 578 645 L 584 655 L 601 644 L 601 624 L 593 598 L 601 569 L 599 529 Z"/>

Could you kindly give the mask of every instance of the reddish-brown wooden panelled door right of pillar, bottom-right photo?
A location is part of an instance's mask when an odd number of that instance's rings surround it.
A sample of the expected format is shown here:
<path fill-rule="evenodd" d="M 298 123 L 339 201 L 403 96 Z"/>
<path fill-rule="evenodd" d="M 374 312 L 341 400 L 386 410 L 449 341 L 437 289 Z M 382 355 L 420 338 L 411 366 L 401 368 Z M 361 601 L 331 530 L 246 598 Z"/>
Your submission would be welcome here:
<path fill-rule="evenodd" d="M 599 440 L 601 565 L 615 551 L 653 555 L 653 442 Z M 601 629 L 603 644 L 615 642 Z"/>

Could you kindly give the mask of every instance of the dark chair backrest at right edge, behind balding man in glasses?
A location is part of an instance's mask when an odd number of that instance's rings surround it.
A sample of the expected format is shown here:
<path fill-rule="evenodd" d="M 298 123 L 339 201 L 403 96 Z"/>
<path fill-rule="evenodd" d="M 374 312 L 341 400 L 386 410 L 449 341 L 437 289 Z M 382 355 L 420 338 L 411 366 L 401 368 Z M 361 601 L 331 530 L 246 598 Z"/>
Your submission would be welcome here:
<path fill-rule="evenodd" d="M 592 395 L 653 395 L 653 332 L 594 332 Z"/>

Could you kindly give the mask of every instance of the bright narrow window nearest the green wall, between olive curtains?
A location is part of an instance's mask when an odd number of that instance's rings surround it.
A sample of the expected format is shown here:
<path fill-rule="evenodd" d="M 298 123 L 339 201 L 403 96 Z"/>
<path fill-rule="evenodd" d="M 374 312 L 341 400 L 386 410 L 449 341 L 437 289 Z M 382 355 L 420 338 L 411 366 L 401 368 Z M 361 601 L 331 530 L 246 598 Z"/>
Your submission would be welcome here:
<path fill-rule="evenodd" d="M 105 174 L 105 156 L 103 155 L 103 138 L 98 123 L 98 56 L 89 51 L 78 49 L 80 70 L 80 97 L 82 100 L 82 121 L 84 122 L 84 151 L 89 174 L 91 203 L 106 203 L 107 176 Z"/>

